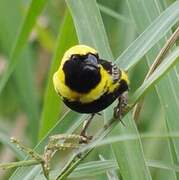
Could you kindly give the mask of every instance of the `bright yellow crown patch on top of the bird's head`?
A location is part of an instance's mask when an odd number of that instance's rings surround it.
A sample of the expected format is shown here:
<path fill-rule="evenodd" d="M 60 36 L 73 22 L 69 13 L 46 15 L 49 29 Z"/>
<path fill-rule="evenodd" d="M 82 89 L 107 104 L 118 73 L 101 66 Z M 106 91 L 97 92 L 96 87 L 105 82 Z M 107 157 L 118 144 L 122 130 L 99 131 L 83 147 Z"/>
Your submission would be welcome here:
<path fill-rule="evenodd" d="M 79 54 L 79 55 L 86 55 L 88 53 L 92 53 L 92 54 L 97 54 L 97 51 L 89 46 L 86 45 L 75 45 L 73 47 L 71 47 L 70 49 L 68 49 L 61 61 L 61 67 L 63 66 L 63 64 L 65 63 L 65 61 L 67 61 L 68 59 L 70 59 L 70 57 L 73 54 Z"/>

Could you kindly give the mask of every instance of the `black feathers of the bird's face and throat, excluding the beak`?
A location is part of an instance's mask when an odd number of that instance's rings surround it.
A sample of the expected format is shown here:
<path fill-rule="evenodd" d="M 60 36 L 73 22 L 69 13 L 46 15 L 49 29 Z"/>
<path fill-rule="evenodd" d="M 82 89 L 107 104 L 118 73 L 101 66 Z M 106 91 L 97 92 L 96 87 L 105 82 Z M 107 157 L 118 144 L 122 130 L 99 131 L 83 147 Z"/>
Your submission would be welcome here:
<path fill-rule="evenodd" d="M 101 80 L 99 68 L 85 69 L 84 67 L 85 63 L 80 60 L 68 60 L 63 66 L 66 85 L 79 93 L 88 93 Z"/>

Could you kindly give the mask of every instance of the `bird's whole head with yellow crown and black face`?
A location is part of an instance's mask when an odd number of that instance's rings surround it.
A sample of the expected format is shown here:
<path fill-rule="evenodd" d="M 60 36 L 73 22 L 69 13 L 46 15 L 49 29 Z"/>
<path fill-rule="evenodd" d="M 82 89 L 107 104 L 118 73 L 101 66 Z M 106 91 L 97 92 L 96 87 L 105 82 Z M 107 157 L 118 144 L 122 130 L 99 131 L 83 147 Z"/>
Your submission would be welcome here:
<path fill-rule="evenodd" d="M 65 74 L 65 84 L 78 93 L 89 92 L 101 80 L 98 54 L 85 45 L 66 51 L 60 68 Z"/>

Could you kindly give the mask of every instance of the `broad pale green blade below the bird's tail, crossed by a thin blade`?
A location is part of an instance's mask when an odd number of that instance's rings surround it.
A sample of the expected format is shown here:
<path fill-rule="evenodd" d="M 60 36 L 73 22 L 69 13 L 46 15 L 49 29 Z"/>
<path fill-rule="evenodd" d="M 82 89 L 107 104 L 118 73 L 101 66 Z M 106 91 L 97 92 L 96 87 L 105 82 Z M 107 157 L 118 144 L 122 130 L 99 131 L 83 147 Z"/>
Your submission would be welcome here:
<path fill-rule="evenodd" d="M 136 134 L 139 138 L 134 141 L 124 141 L 122 143 L 112 144 L 121 176 L 123 179 L 133 180 L 152 179 L 149 169 L 146 168 L 140 135 L 131 113 L 125 116 L 123 121 L 127 128 L 118 124 L 114 129 L 115 133 L 113 132 L 113 134 Z"/>

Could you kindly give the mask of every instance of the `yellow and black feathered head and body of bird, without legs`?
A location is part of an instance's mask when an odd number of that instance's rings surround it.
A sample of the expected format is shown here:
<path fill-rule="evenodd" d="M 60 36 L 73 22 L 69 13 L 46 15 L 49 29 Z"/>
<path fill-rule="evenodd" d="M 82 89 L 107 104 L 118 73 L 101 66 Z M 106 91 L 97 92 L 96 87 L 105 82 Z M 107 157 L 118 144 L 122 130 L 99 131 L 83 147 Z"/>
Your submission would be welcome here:
<path fill-rule="evenodd" d="M 95 49 L 76 45 L 64 54 L 53 83 L 70 109 L 94 114 L 128 91 L 129 80 L 115 64 L 102 60 Z"/>

